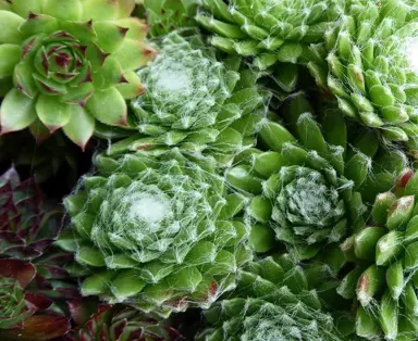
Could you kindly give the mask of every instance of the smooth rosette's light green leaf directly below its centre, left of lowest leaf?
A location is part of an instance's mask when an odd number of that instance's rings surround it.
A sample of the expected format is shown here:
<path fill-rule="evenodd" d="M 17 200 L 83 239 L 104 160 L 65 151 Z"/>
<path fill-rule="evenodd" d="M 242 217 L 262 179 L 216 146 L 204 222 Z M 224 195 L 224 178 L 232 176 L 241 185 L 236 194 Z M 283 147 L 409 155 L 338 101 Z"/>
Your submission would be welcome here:
<path fill-rule="evenodd" d="M 70 122 L 71 109 L 74 104 L 62 103 L 57 97 L 40 94 L 36 102 L 39 119 L 53 132 Z"/>

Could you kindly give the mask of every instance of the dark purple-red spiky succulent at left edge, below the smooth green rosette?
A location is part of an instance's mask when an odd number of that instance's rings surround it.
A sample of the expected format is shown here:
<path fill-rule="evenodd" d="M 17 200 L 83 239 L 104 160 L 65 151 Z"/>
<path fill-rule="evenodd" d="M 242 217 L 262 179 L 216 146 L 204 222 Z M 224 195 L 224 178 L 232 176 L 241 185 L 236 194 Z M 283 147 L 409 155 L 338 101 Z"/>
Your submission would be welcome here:
<path fill-rule="evenodd" d="M 34 179 L 20 182 L 14 168 L 0 177 L 0 258 L 30 262 L 34 280 L 25 289 L 63 303 L 79 296 L 77 283 L 62 268 L 73 255 L 52 247 L 63 212 L 42 199 Z"/>

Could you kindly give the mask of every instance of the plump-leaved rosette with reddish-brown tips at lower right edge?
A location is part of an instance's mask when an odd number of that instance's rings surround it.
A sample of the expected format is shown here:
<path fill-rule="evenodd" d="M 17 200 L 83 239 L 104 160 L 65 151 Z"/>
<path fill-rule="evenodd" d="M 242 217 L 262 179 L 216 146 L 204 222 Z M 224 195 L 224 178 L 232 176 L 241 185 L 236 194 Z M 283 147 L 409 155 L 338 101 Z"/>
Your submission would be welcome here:
<path fill-rule="evenodd" d="M 418 175 L 403 172 L 394 192 L 376 198 L 372 222 L 342 250 L 355 267 L 337 292 L 356 301 L 356 332 L 369 340 L 418 338 Z"/>

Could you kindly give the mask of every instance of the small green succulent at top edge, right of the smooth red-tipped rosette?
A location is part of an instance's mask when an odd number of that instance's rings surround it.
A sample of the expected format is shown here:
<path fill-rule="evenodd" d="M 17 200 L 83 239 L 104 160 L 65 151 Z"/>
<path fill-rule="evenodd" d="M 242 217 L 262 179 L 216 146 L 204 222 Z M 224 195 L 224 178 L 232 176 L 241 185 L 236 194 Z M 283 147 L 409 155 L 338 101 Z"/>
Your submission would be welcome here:
<path fill-rule="evenodd" d="M 199 0 L 145 0 L 151 36 L 164 36 L 181 28 L 195 26 L 193 17 Z"/>

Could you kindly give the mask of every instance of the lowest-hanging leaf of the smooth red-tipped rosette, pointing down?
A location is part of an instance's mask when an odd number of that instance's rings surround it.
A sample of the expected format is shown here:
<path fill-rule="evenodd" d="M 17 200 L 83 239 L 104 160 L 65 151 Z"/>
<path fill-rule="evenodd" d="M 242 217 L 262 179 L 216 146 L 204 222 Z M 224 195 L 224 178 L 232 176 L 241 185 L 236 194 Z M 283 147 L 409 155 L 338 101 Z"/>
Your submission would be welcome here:
<path fill-rule="evenodd" d="M 81 105 L 71 105 L 70 122 L 63 127 L 65 135 L 84 151 L 95 130 L 95 118 Z"/>

